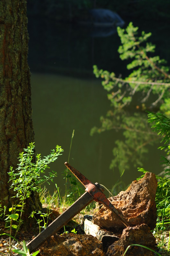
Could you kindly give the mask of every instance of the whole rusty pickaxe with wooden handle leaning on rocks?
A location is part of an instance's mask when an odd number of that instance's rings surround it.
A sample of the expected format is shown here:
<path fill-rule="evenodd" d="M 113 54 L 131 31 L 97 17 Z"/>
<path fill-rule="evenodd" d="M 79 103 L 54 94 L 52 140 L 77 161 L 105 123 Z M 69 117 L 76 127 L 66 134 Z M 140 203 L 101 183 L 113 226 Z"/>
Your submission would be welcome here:
<path fill-rule="evenodd" d="M 106 198 L 102 192 L 102 187 L 99 183 L 93 184 L 83 174 L 81 174 L 69 163 L 65 162 L 67 168 L 78 178 L 78 180 L 85 186 L 85 193 L 77 199 L 67 210 L 65 210 L 58 218 L 56 218 L 51 224 L 48 225 L 38 236 L 36 236 L 26 246 L 30 252 L 35 251 L 41 244 L 43 244 L 49 237 L 51 237 L 56 231 L 61 229 L 67 224 L 74 216 L 81 212 L 87 205 L 93 200 L 106 206 L 111 212 L 117 215 L 126 227 L 130 226 L 128 221 L 125 220 L 122 213 L 120 213 L 115 206 Z M 19 256 L 19 254 L 17 254 Z"/>

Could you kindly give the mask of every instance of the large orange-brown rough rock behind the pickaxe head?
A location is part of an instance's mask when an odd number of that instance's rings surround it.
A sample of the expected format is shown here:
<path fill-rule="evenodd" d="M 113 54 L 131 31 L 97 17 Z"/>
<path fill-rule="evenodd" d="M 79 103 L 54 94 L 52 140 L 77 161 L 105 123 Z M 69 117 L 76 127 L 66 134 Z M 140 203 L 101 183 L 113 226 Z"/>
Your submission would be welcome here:
<path fill-rule="evenodd" d="M 133 181 L 126 191 L 121 191 L 117 196 L 110 197 L 108 200 L 129 221 L 130 226 L 144 223 L 154 229 L 156 226 L 157 184 L 155 174 L 147 172 L 142 179 Z M 96 204 L 94 210 L 93 223 L 106 229 L 125 227 L 115 213 L 99 203 Z"/>

